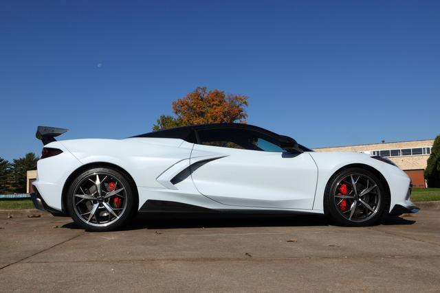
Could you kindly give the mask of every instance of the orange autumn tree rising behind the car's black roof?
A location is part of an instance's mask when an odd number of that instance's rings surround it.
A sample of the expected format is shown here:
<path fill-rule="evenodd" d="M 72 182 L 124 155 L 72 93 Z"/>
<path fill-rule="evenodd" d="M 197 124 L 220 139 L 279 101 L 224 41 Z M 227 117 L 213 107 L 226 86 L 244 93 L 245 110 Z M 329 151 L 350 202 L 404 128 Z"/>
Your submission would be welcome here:
<path fill-rule="evenodd" d="M 218 89 L 207 91 L 206 86 L 199 86 L 173 102 L 175 116 L 160 116 L 153 130 L 193 124 L 246 123 L 246 106 L 245 95 L 225 94 Z"/>

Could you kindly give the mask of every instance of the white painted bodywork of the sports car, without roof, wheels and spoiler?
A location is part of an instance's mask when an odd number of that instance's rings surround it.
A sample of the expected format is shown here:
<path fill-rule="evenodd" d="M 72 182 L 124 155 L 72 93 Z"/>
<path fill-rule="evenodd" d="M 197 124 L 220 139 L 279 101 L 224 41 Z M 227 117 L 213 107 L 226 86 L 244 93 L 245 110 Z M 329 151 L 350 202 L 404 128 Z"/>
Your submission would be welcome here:
<path fill-rule="evenodd" d="M 380 172 L 395 204 L 406 200 L 410 179 L 398 167 L 355 152 L 281 152 L 237 150 L 188 143 L 181 139 L 76 139 L 47 148 L 62 154 L 39 160 L 34 186 L 49 207 L 62 210 L 67 178 L 90 163 L 110 163 L 133 178 L 139 209 L 146 200 L 168 200 L 217 210 L 283 210 L 323 213 L 329 179 L 341 167 L 364 164 Z M 181 180 L 171 180 L 181 172 Z"/>

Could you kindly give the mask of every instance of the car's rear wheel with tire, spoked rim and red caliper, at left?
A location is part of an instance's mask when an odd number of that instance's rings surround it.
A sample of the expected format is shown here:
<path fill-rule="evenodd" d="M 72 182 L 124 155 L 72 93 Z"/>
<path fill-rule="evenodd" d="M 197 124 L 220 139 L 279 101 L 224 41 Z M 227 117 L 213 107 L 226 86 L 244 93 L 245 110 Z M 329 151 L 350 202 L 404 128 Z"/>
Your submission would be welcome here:
<path fill-rule="evenodd" d="M 97 167 L 79 174 L 67 192 L 72 219 L 88 231 L 120 228 L 136 211 L 133 187 L 115 169 Z"/>

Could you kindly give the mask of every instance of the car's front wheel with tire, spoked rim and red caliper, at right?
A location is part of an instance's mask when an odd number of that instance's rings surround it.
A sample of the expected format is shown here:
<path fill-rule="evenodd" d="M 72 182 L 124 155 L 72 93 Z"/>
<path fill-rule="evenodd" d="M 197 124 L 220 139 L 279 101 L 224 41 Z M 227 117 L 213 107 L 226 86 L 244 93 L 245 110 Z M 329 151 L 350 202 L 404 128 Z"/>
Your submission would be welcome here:
<path fill-rule="evenodd" d="M 387 206 L 385 190 L 382 181 L 369 170 L 342 170 L 327 185 L 325 213 L 343 226 L 376 224 Z"/>

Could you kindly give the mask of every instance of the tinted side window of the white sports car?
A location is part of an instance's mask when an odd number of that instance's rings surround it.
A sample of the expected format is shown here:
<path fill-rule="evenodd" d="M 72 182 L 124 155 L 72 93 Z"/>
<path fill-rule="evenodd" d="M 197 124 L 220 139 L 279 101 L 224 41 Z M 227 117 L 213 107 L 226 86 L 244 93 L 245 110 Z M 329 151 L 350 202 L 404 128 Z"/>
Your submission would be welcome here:
<path fill-rule="evenodd" d="M 264 152 L 284 152 L 278 141 L 267 134 L 240 128 L 214 128 L 199 130 L 202 145 Z"/>

